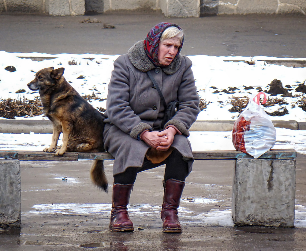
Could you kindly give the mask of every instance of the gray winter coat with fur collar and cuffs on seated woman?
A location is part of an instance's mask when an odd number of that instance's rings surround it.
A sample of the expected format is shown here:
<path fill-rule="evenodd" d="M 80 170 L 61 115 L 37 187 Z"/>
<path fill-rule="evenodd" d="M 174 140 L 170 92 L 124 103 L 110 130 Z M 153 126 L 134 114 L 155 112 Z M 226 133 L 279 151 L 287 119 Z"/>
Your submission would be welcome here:
<path fill-rule="evenodd" d="M 162 94 L 169 104 L 178 100 L 179 110 L 165 127 L 174 125 L 182 133 L 176 134 L 172 146 L 192 169 L 192 150 L 187 137 L 188 129 L 196 120 L 200 109 L 192 62 L 178 55 L 167 67 L 151 63 L 144 51 L 143 41 L 137 42 L 125 55 L 114 62 L 108 85 L 107 109 L 104 115 L 104 147 L 115 158 L 113 175 L 128 167 L 142 167 L 149 146 L 137 136 L 144 130 L 161 131 L 164 106 L 147 71 L 151 71 Z"/>

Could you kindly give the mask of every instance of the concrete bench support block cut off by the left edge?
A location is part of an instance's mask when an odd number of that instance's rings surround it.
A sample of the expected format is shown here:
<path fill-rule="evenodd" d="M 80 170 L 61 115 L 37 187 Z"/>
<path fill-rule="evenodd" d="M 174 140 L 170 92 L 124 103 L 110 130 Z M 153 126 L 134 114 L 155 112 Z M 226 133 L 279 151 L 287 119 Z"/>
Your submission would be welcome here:
<path fill-rule="evenodd" d="M 0 228 L 19 228 L 21 182 L 19 160 L 0 160 Z"/>

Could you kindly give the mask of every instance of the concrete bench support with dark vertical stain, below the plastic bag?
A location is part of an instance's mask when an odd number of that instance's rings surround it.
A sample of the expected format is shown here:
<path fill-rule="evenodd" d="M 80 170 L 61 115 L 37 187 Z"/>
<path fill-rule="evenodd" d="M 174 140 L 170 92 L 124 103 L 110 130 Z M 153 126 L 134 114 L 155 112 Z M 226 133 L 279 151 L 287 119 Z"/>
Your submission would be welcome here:
<path fill-rule="evenodd" d="M 294 227 L 294 159 L 237 159 L 233 180 L 235 225 Z"/>

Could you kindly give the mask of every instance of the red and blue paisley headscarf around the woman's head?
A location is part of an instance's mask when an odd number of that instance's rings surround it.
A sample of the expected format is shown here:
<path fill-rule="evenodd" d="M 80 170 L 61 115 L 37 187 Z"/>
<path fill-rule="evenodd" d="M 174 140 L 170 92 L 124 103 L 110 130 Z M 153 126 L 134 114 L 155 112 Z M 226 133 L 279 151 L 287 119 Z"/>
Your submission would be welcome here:
<path fill-rule="evenodd" d="M 162 32 L 164 32 L 167 28 L 175 26 L 179 30 L 182 30 L 180 26 L 172 23 L 159 23 L 155 25 L 148 33 L 146 39 L 144 40 L 144 51 L 146 52 L 148 58 L 152 63 L 158 66 L 162 66 L 158 62 L 158 47 L 159 47 L 159 41 L 162 36 Z M 177 57 L 178 54 L 180 54 L 180 51 L 183 47 L 184 43 L 184 35 L 182 37 L 182 42 L 180 47 L 178 48 L 177 54 L 175 57 Z"/>

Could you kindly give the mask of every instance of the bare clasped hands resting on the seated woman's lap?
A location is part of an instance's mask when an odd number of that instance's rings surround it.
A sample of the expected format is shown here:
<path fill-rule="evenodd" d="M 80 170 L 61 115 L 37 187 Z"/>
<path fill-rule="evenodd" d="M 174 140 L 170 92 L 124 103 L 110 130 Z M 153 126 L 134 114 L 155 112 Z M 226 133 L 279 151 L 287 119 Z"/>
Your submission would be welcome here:
<path fill-rule="evenodd" d="M 141 139 L 157 150 L 166 151 L 172 145 L 176 133 L 177 131 L 173 127 L 168 127 L 161 132 L 145 131 L 141 135 Z"/>

